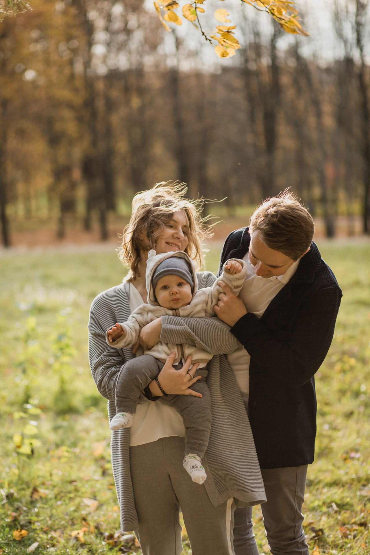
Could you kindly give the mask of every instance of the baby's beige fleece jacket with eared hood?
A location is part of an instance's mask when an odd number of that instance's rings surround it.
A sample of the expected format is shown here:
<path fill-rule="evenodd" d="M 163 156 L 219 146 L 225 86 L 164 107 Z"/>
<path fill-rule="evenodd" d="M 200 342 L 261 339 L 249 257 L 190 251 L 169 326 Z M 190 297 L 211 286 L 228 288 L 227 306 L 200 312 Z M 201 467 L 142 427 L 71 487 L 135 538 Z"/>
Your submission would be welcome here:
<path fill-rule="evenodd" d="M 190 264 L 194 279 L 194 291 L 190 303 L 176 310 L 165 309 L 163 306 L 160 306 L 158 301 L 155 299 L 153 287 L 151 285 L 151 279 L 156 267 L 163 262 L 163 260 L 166 260 L 171 256 L 187 260 Z M 198 290 L 198 280 L 194 263 L 186 253 L 183 251 L 175 251 L 171 253 L 156 254 L 155 250 L 150 250 L 148 254 L 148 261 L 146 263 L 145 274 L 146 290 L 149 291 L 148 304 L 142 304 L 139 306 L 138 309 L 131 313 L 131 316 L 126 322 L 124 322 L 124 324 L 120 324 L 125 331 L 125 335 L 123 337 L 120 337 L 116 341 L 110 343 L 107 331 L 105 339 L 107 340 L 108 345 L 115 347 L 116 349 L 133 347 L 138 340 L 141 328 L 161 316 L 183 316 L 186 318 L 208 318 L 215 316 L 213 307 L 219 300 L 219 293 L 223 292 L 219 285 L 219 281 L 225 281 L 225 283 L 231 287 L 232 291 L 234 291 L 235 295 L 239 295 L 245 281 L 247 271 L 245 262 L 239 258 L 230 260 L 236 260 L 242 265 L 243 269 L 239 274 L 228 274 L 225 270 L 225 265 L 227 264 L 226 262 L 224 264 L 224 268 L 222 268 L 222 274 L 219 278 L 217 278 L 215 284 L 212 287 L 205 287 L 204 289 Z M 145 354 L 154 356 L 155 359 L 165 362 L 171 352 L 176 352 L 174 364 L 178 364 L 179 360 L 186 360 L 189 355 L 192 355 L 192 364 L 200 362 L 202 363 L 201 366 L 204 366 L 204 364 L 209 362 L 212 358 L 212 355 L 209 352 L 199 349 L 199 347 L 195 347 L 193 345 L 170 345 L 161 341 L 156 344 L 153 349 L 145 351 Z"/>

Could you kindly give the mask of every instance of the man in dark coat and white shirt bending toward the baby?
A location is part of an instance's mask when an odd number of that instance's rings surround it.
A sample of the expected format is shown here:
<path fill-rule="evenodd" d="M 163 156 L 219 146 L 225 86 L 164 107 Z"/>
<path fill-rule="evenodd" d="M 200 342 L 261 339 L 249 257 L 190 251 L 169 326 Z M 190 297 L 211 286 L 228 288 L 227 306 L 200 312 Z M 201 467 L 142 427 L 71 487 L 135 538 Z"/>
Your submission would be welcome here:
<path fill-rule="evenodd" d="M 215 312 L 245 347 L 244 380 L 267 502 L 263 523 L 273 555 L 308 555 L 302 503 L 316 436 L 315 372 L 330 347 L 342 291 L 312 242 L 313 220 L 291 193 L 266 200 L 249 228 L 225 241 L 248 266 L 236 297 L 222 286 Z M 249 384 L 245 376 L 249 370 Z M 236 555 L 258 555 L 252 508 L 235 512 Z"/>

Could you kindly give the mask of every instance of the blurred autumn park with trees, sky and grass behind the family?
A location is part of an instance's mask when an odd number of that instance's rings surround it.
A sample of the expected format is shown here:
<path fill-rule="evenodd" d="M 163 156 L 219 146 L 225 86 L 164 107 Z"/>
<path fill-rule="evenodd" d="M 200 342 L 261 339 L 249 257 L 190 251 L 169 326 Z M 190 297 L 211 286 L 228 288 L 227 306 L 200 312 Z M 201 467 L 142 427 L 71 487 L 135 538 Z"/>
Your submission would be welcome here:
<path fill-rule="evenodd" d="M 87 321 L 125 274 L 133 195 L 163 180 L 211 200 L 207 270 L 269 195 L 291 187 L 315 219 L 343 300 L 316 374 L 305 531 L 315 555 L 370 553 L 370 8 L 302 0 L 297 38 L 222 7 L 242 46 L 225 60 L 141 0 L 34 0 L 0 23 L 1 555 L 140 553 L 117 532 Z M 268 553 L 259 507 L 255 522 Z"/>

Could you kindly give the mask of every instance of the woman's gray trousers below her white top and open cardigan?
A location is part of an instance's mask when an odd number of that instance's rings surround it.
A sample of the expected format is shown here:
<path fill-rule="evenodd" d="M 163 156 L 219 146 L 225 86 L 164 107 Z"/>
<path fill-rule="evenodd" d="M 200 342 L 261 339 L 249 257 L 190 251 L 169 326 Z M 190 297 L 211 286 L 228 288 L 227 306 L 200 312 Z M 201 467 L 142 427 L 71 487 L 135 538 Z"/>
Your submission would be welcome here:
<path fill-rule="evenodd" d="M 180 555 L 180 507 L 192 555 L 235 555 L 235 502 L 214 507 L 183 467 L 184 438 L 171 436 L 130 447 L 130 469 L 143 555 Z"/>

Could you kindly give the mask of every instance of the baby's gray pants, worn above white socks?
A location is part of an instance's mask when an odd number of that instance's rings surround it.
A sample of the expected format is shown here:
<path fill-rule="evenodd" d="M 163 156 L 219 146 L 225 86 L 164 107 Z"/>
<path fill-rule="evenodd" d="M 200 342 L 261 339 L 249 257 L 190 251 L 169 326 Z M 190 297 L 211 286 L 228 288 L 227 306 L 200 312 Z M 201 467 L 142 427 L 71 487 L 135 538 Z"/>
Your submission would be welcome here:
<path fill-rule="evenodd" d="M 117 412 L 136 412 L 136 406 L 143 390 L 159 372 L 164 363 L 151 355 L 142 355 L 131 359 L 122 367 L 115 388 L 115 405 Z M 176 367 L 183 367 L 182 362 Z M 160 402 L 173 406 L 183 418 L 185 426 L 185 453 L 204 456 L 211 431 L 211 398 L 204 376 L 205 368 L 197 370 L 201 375 L 191 389 L 202 394 L 202 398 L 192 395 L 168 395 L 159 398 Z"/>

